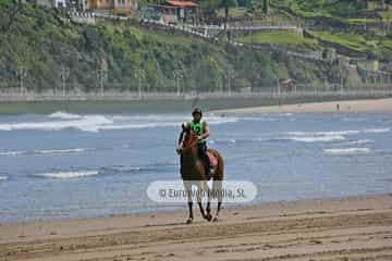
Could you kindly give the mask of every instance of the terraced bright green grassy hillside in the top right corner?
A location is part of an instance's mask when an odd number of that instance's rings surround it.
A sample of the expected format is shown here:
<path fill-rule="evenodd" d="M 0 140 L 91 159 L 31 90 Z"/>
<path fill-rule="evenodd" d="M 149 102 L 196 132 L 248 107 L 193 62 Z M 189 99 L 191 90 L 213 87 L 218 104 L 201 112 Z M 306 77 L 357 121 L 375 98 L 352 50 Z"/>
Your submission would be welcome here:
<path fill-rule="evenodd" d="M 286 44 L 311 39 L 314 48 L 333 48 L 342 55 L 392 60 L 391 1 L 271 0 L 270 4 L 275 20 L 301 23 L 306 30 L 304 39 L 294 37 Z"/>

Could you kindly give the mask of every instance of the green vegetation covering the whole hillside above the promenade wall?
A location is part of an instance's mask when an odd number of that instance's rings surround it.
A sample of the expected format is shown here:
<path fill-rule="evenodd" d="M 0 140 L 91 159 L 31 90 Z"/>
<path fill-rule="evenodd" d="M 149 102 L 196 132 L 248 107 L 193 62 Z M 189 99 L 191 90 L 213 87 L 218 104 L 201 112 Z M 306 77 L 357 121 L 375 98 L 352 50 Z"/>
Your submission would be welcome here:
<path fill-rule="evenodd" d="M 148 2 L 146 0 L 146 2 Z M 25 87 L 35 91 L 61 91 L 61 72 L 70 70 L 68 90 L 99 91 L 100 70 L 108 72 L 105 86 L 118 91 L 176 91 L 175 77 L 185 91 L 228 88 L 274 87 L 280 78 L 293 77 L 304 85 L 340 83 L 338 62 L 298 61 L 284 52 L 250 49 L 247 44 L 275 45 L 284 50 L 309 52 L 335 49 L 340 59 L 352 55 L 392 60 L 392 3 L 352 0 L 198 0 L 204 14 L 252 23 L 290 21 L 310 28 L 305 37 L 294 32 L 262 32 L 233 35 L 246 44 L 184 37 L 140 26 L 136 21 L 103 21 L 95 26 L 68 22 L 66 15 L 15 0 L 0 0 L 0 87 L 20 85 L 26 69 Z M 268 4 L 270 3 L 270 5 Z M 174 76 L 174 72 L 175 75 Z M 346 83 L 360 80 L 350 73 Z M 14 89 L 13 89 L 14 90 Z"/>

